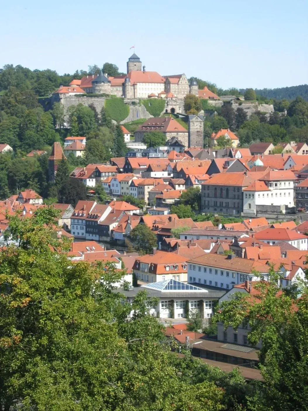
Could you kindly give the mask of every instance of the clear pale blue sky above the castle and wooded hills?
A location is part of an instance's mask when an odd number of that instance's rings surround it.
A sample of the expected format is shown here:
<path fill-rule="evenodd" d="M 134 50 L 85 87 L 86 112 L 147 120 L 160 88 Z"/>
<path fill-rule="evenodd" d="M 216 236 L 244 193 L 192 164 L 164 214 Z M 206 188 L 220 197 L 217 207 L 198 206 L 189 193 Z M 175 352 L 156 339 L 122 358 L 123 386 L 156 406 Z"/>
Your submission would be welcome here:
<path fill-rule="evenodd" d="M 2 0 L 0 67 L 73 73 L 108 61 L 222 88 L 308 83 L 308 1 Z"/>

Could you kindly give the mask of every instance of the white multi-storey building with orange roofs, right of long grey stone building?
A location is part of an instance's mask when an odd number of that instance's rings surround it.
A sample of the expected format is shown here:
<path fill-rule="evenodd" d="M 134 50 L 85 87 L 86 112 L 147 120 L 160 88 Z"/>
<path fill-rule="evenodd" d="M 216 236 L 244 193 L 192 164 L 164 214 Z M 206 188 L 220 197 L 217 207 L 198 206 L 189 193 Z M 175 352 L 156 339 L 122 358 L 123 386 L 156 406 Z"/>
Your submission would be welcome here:
<path fill-rule="evenodd" d="M 268 171 L 259 180 L 243 188 L 245 215 L 257 212 L 285 213 L 294 207 L 294 180 L 291 170 Z"/>

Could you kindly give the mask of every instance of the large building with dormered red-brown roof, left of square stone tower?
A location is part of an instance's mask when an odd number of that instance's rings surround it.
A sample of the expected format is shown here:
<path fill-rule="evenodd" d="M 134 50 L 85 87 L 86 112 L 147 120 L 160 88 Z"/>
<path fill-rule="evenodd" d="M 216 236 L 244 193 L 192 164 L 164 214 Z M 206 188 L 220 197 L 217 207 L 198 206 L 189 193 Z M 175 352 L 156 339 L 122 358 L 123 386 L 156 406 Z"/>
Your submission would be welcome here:
<path fill-rule="evenodd" d="M 180 125 L 172 117 L 149 118 L 135 131 L 135 141 L 143 141 L 146 133 L 153 131 L 158 131 L 165 134 L 166 140 L 171 139 L 172 137 L 176 137 L 180 141 L 182 141 L 182 143 L 185 145 L 185 148 L 188 147 L 188 130 L 186 130 L 186 128 Z"/>

